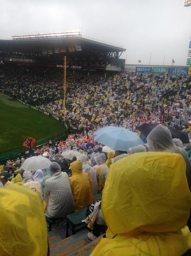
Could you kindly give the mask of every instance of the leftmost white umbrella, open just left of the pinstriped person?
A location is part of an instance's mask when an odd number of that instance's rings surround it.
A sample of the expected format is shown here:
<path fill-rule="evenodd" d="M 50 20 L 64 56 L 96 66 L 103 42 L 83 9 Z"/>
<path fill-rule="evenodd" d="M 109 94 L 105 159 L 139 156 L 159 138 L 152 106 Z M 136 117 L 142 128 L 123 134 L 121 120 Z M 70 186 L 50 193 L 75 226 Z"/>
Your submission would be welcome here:
<path fill-rule="evenodd" d="M 27 158 L 21 165 L 20 170 L 25 171 L 36 171 L 38 169 L 42 170 L 48 167 L 52 162 L 44 156 L 32 156 Z"/>

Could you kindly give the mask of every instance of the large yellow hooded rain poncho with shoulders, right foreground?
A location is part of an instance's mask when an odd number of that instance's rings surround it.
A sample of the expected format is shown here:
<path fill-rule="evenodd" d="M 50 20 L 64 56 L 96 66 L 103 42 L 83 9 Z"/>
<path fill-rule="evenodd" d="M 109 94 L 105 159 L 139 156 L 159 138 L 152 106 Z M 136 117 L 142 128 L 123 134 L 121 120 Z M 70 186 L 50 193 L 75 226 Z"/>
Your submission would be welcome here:
<path fill-rule="evenodd" d="M 91 256 L 180 256 L 191 248 L 191 195 L 180 154 L 145 152 L 111 165 L 102 195 L 108 226 Z"/>

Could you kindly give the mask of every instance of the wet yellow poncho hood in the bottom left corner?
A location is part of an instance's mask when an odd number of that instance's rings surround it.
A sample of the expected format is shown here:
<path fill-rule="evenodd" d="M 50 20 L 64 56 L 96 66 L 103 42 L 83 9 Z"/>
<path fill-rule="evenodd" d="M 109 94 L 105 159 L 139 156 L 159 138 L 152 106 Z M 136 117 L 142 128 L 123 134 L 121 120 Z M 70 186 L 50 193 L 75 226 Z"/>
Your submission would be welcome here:
<path fill-rule="evenodd" d="M 0 255 L 47 256 L 47 228 L 40 197 L 23 186 L 0 189 Z"/>

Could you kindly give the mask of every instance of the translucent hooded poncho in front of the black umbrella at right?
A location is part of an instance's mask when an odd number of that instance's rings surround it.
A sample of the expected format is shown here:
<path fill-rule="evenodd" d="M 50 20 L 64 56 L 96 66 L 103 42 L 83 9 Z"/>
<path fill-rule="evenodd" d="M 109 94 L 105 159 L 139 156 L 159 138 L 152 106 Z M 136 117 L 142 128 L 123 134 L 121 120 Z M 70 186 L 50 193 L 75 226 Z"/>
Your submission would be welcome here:
<path fill-rule="evenodd" d="M 181 154 L 186 162 L 186 177 L 191 191 L 191 162 L 183 148 L 177 147 L 169 129 L 159 124 L 147 136 L 147 144 L 150 151 L 174 152 Z"/>

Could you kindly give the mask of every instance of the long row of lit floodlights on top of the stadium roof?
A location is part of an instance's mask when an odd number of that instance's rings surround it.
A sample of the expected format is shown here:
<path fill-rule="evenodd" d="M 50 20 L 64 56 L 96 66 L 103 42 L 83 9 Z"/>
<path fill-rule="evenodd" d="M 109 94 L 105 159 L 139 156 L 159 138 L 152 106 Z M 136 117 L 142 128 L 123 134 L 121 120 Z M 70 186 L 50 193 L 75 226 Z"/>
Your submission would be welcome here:
<path fill-rule="evenodd" d="M 29 34 L 29 35 L 14 35 L 12 36 L 13 40 L 19 39 L 36 39 L 36 38 L 55 38 L 55 37 L 81 37 L 81 32 L 78 31 L 64 31 L 64 32 L 56 32 L 56 33 L 37 33 L 37 34 Z"/>

